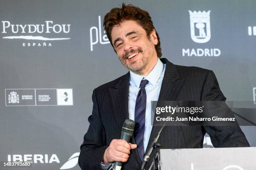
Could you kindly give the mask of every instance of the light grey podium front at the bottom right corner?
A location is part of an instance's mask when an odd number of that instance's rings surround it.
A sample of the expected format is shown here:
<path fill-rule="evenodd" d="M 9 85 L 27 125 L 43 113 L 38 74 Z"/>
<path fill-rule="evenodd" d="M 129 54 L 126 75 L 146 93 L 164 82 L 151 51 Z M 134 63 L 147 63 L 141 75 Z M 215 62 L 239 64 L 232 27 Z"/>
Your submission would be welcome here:
<path fill-rule="evenodd" d="M 256 147 L 161 149 L 161 170 L 256 170 Z"/>

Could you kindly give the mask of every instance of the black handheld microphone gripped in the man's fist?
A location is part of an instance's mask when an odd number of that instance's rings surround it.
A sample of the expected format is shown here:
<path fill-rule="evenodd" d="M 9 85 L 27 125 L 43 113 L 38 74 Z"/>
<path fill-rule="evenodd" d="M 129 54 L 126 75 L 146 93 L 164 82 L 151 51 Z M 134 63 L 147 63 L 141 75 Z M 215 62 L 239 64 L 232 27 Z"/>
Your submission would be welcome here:
<path fill-rule="evenodd" d="M 131 119 L 126 119 L 123 123 L 120 139 L 123 139 L 126 142 L 129 142 L 131 139 L 131 136 L 133 135 L 134 127 L 135 127 L 135 122 Z M 117 161 L 114 162 L 113 170 L 121 170 L 122 164 L 123 164 L 122 162 L 117 162 Z"/>

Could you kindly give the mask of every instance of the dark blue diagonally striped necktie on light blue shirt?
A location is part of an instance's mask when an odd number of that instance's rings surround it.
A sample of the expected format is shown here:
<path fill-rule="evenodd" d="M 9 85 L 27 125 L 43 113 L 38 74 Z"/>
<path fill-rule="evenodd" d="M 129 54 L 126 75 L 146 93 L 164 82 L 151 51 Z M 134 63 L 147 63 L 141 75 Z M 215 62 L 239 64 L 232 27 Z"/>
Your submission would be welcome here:
<path fill-rule="evenodd" d="M 147 94 L 145 86 L 148 83 L 148 80 L 141 80 L 141 89 L 138 92 L 135 104 L 135 140 L 137 144 L 138 154 L 141 158 L 141 161 L 144 157 L 144 147 L 143 147 L 143 139 L 144 139 L 144 131 L 145 131 L 145 115 L 146 115 L 146 102 L 147 102 Z"/>

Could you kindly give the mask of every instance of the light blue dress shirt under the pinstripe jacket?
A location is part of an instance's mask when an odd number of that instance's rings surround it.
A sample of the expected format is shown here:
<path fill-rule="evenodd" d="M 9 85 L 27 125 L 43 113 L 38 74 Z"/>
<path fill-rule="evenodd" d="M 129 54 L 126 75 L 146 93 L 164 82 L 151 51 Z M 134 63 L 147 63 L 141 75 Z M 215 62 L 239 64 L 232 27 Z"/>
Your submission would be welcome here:
<path fill-rule="evenodd" d="M 147 103 L 146 103 L 146 115 L 145 115 L 145 131 L 144 131 L 144 153 L 146 152 L 146 148 L 148 145 L 149 137 L 152 130 L 151 125 L 151 101 L 157 101 L 161 84 L 164 78 L 165 64 L 161 62 L 158 58 L 155 67 L 151 70 L 151 72 L 143 77 L 141 75 L 137 75 L 134 72 L 130 71 L 130 80 L 129 80 L 129 98 L 128 98 L 128 109 L 129 109 L 129 118 L 134 120 L 135 115 L 135 103 L 138 95 L 138 91 L 140 90 L 141 80 L 148 80 L 148 84 L 146 85 L 146 94 L 147 94 Z M 104 165 L 101 163 L 102 170 L 109 170 L 112 168 L 112 164 Z"/>

